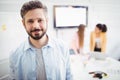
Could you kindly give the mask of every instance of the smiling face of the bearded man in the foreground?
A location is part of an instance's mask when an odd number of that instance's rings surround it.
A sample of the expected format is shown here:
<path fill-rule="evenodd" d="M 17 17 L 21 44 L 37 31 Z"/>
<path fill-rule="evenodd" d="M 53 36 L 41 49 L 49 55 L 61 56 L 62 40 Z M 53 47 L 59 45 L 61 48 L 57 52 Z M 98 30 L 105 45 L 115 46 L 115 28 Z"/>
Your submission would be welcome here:
<path fill-rule="evenodd" d="M 24 16 L 23 25 L 31 38 L 41 39 L 47 31 L 47 18 L 43 9 L 28 11 Z"/>

